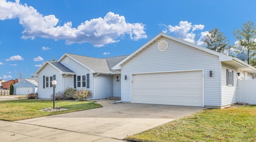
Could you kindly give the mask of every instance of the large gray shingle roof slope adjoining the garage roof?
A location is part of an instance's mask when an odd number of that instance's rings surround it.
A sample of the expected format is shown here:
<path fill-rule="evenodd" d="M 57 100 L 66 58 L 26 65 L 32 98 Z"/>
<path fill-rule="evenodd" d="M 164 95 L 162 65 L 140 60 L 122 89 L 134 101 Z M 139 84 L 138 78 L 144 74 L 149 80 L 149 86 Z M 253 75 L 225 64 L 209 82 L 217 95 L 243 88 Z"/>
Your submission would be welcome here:
<path fill-rule="evenodd" d="M 116 72 L 111 68 L 128 56 L 128 55 L 125 55 L 125 56 L 99 59 L 99 58 L 86 57 L 86 56 L 75 55 L 70 53 L 67 53 L 67 54 L 73 57 L 74 59 L 76 59 L 77 61 L 81 62 L 82 64 L 86 65 L 90 69 L 94 70 L 95 72 L 105 72 L 105 73 L 108 73 L 110 71 L 113 73 Z"/>

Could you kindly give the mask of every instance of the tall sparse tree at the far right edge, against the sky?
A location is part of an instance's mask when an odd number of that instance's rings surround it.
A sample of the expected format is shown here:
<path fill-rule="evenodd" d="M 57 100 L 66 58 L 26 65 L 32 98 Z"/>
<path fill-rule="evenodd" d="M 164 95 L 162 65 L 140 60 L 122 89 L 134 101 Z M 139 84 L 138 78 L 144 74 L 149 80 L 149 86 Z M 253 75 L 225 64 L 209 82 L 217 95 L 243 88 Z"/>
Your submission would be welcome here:
<path fill-rule="evenodd" d="M 234 29 L 232 32 L 238 40 L 238 45 L 234 52 L 246 53 L 248 55 L 247 63 L 254 59 L 256 55 L 256 26 L 253 22 L 244 23 L 240 29 Z"/>

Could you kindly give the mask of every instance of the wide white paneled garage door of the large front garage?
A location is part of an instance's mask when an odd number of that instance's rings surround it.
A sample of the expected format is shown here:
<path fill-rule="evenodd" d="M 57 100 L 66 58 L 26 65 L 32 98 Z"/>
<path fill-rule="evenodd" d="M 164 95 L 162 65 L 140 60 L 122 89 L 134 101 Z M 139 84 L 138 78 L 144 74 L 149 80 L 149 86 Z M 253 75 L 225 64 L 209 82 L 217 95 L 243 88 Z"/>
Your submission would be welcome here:
<path fill-rule="evenodd" d="M 132 103 L 203 107 L 202 71 L 134 74 Z"/>

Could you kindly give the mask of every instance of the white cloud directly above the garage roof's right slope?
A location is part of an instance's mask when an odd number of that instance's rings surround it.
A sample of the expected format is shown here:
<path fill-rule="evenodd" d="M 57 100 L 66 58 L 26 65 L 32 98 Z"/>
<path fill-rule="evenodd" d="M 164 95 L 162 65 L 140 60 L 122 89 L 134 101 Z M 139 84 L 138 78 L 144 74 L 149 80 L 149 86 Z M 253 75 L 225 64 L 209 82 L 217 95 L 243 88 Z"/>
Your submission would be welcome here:
<path fill-rule="evenodd" d="M 164 25 L 164 24 L 159 24 L 160 26 L 164 26 L 165 29 L 162 31 L 164 33 L 173 33 L 176 37 L 180 39 L 184 39 L 186 41 L 195 43 L 195 37 L 196 34 L 194 33 L 196 30 L 203 30 L 204 25 L 192 25 L 191 22 L 188 21 L 180 21 L 178 26 L 172 26 L 172 25 Z M 204 35 L 205 32 L 201 32 L 199 35 L 200 39 L 197 41 L 198 45 L 203 45 L 204 44 Z"/>

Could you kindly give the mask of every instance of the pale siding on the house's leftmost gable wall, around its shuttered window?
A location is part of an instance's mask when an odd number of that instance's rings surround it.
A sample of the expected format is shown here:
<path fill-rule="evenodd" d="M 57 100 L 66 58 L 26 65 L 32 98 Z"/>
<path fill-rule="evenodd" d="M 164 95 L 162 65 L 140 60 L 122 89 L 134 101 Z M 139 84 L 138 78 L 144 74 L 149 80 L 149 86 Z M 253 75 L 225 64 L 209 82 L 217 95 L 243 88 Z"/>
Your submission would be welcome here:
<path fill-rule="evenodd" d="M 40 73 L 38 73 L 38 98 L 50 99 L 53 94 L 53 87 L 43 88 L 43 76 L 50 77 L 56 75 L 56 89 L 55 92 L 62 91 L 62 75 L 51 65 L 47 64 Z"/>

